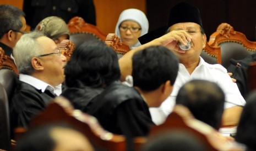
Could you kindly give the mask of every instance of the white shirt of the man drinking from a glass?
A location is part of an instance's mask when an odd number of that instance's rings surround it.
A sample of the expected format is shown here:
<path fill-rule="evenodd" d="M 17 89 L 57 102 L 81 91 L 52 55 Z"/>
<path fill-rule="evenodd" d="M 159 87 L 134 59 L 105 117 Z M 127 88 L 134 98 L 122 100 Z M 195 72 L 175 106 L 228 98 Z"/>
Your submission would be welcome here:
<path fill-rule="evenodd" d="M 233 83 L 232 79 L 227 74 L 226 68 L 219 64 L 210 65 L 200 57 L 199 65 L 195 68 L 191 75 L 188 73 L 186 67 L 182 63 L 179 63 L 178 75 L 171 95 L 161 104 L 159 108 L 149 109 L 152 120 L 156 125 L 164 123 L 165 119 L 172 112 L 173 106 L 175 105 L 178 90 L 182 85 L 193 79 L 203 79 L 217 83 L 225 94 L 225 108 L 244 106 L 244 104 L 246 104 L 246 101 L 242 97 L 236 83 Z"/>

